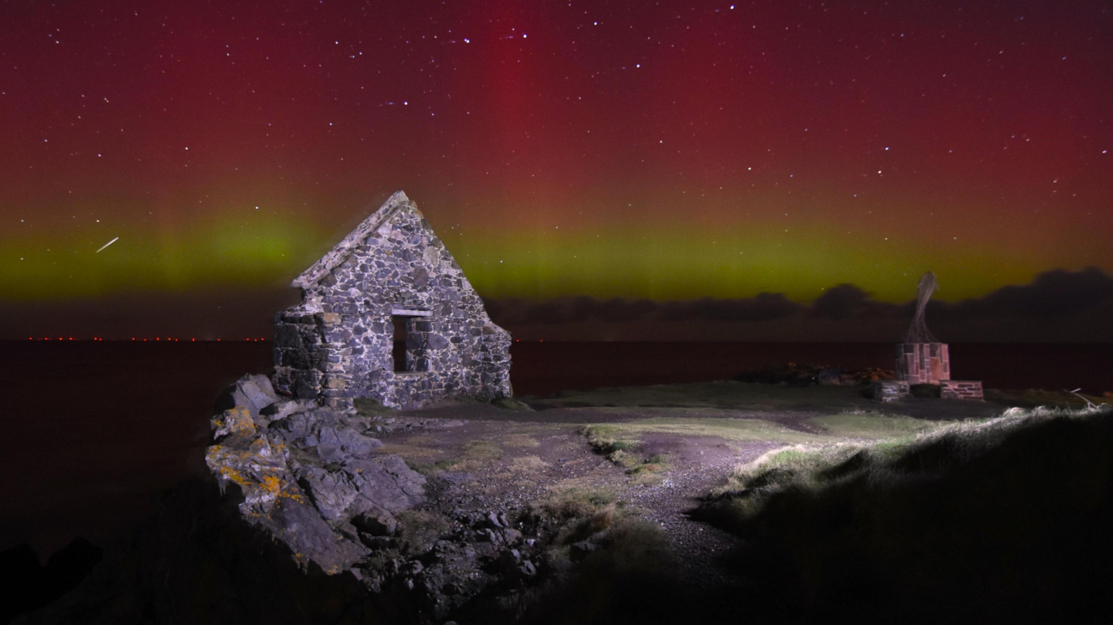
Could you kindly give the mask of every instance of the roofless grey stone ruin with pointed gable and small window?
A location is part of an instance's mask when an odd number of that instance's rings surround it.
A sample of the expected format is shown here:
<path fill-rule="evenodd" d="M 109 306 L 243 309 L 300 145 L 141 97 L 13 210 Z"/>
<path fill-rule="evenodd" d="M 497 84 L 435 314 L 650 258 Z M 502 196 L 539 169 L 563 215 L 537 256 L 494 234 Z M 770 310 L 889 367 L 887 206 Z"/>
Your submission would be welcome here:
<path fill-rule="evenodd" d="M 298 276 L 275 315 L 278 393 L 336 409 L 512 395 L 510 333 L 402 191 Z"/>

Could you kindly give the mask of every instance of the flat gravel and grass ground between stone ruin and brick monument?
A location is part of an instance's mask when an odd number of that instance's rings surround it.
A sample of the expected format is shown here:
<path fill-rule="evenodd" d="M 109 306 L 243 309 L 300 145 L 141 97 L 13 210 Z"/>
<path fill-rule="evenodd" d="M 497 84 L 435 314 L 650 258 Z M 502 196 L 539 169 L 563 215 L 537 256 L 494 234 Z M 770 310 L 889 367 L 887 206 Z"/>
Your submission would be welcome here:
<path fill-rule="evenodd" d="M 383 414 L 381 452 L 440 485 L 442 506 L 513 512 L 569 489 L 612 493 L 661 526 L 689 582 L 718 584 L 727 573 L 716 556 L 735 538 L 686 512 L 735 467 L 785 445 L 915 436 L 1006 407 L 940 399 L 881 405 L 864 390 L 709 383 L 519 398 L 530 409 L 459 403 Z M 600 433 L 624 450 L 609 454 Z"/>

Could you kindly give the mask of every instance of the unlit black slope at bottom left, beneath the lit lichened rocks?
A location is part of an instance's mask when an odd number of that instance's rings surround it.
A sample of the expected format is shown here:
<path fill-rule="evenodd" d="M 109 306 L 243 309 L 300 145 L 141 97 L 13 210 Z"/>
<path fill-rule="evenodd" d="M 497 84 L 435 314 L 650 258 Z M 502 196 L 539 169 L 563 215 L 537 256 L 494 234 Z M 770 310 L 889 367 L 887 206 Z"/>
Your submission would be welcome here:
<path fill-rule="evenodd" d="M 196 479 L 168 493 L 76 591 L 16 623 L 415 623 L 415 614 L 404 596 L 367 593 L 351 574 L 299 566 L 215 480 Z"/>

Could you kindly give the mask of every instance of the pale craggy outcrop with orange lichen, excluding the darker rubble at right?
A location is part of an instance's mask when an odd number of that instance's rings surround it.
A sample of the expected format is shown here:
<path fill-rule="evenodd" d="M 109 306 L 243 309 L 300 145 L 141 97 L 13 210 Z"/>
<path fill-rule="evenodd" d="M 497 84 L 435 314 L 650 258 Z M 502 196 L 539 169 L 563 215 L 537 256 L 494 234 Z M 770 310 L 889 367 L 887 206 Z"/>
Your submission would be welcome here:
<path fill-rule="evenodd" d="M 286 545 L 302 566 L 327 574 L 370 554 L 361 534 L 396 525 L 425 500 L 425 478 L 402 458 L 377 454 L 370 419 L 312 401 L 277 399 L 265 376 L 229 387 L 213 417 L 205 462 L 248 524 Z"/>

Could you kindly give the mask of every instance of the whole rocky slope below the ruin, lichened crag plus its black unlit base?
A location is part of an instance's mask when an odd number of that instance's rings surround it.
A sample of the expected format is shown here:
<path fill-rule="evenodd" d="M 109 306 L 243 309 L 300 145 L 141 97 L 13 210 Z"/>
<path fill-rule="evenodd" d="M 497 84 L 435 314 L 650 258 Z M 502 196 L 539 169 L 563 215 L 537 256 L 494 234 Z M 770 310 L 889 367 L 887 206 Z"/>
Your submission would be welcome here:
<path fill-rule="evenodd" d="M 380 453 L 382 419 L 279 400 L 263 376 L 218 407 L 211 475 L 17 623 L 440 623 L 540 577 L 526 515 L 427 502 L 453 483 Z"/>

